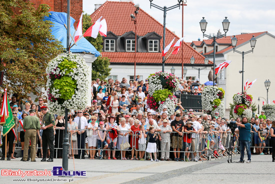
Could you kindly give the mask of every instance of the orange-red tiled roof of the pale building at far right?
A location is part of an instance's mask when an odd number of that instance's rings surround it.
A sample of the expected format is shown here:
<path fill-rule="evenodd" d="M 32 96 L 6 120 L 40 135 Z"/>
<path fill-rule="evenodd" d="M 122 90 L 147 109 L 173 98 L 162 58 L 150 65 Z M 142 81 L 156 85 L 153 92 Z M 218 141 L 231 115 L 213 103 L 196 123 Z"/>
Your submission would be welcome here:
<path fill-rule="evenodd" d="M 249 40 L 252 38 L 253 35 L 254 35 L 255 37 L 257 37 L 257 36 L 259 36 L 259 35 L 261 35 L 261 34 L 263 34 L 263 33 L 267 33 L 267 32 L 248 33 L 248 34 L 242 34 L 242 35 L 235 35 L 235 37 L 237 38 L 237 45 L 236 45 L 236 47 L 239 46 L 239 45 L 241 45 L 241 44 L 243 44 L 244 42 L 249 41 Z M 227 37 L 228 37 L 228 40 L 230 40 L 230 44 L 231 44 L 231 38 L 232 38 L 232 36 L 227 36 Z M 227 37 L 226 37 L 226 40 L 227 40 Z M 229 38 L 230 38 L 230 39 L 229 39 Z M 218 39 L 218 40 L 219 40 L 219 39 Z M 225 40 L 225 39 L 224 39 L 224 40 Z M 229 42 L 229 41 L 227 41 L 227 42 Z M 218 43 L 218 42 L 217 42 L 217 43 Z M 228 47 L 226 47 L 226 48 L 224 48 L 224 49 L 222 49 L 222 50 L 220 50 L 220 51 L 218 51 L 218 52 L 216 52 L 216 54 L 222 54 L 222 53 L 224 53 L 224 52 L 226 52 L 226 51 L 228 51 L 228 50 L 230 50 L 230 49 L 233 49 L 233 48 L 231 47 L 231 45 L 228 46 Z M 204 56 L 205 56 L 205 55 L 209 55 L 209 54 L 211 54 L 211 53 L 213 53 L 213 50 L 211 50 L 211 51 L 205 53 Z"/>

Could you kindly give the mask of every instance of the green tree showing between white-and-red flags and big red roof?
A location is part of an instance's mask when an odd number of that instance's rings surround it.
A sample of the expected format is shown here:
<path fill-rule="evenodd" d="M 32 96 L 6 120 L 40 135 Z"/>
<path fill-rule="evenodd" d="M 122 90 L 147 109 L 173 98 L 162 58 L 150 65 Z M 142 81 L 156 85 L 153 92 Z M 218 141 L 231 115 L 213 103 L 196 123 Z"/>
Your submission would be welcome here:
<path fill-rule="evenodd" d="M 88 14 L 83 14 L 82 17 L 82 29 L 83 33 L 91 26 L 91 19 Z M 98 34 L 96 39 L 92 37 L 85 37 L 91 45 L 95 47 L 97 51 L 102 51 L 103 40 L 102 37 Z M 97 57 L 96 60 L 92 63 L 91 79 L 95 80 L 99 78 L 100 80 L 106 79 L 110 75 L 111 69 L 109 68 L 110 60 L 106 57 Z"/>

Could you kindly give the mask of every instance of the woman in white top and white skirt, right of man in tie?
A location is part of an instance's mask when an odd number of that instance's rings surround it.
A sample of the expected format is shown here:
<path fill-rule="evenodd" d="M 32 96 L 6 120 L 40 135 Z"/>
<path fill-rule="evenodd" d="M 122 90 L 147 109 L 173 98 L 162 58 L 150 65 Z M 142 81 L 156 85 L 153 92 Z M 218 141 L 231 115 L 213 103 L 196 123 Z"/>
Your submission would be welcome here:
<path fill-rule="evenodd" d="M 91 116 L 90 117 L 91 121 L 88 123 L 88 127 L 87 129 L 90 131 L 92 130 L 92 135 L 88 136 L 88 147 L 89 149 L 96 149 L 97 146 L 97 128 L 98 128 L 98 124 L 95 122 L 96 121 L 96 117 L 95 116 Z M 94 159 L 94 154 L 95 154 L 95 150 L 89 150 L 90 153 L 90 159 Z"/>

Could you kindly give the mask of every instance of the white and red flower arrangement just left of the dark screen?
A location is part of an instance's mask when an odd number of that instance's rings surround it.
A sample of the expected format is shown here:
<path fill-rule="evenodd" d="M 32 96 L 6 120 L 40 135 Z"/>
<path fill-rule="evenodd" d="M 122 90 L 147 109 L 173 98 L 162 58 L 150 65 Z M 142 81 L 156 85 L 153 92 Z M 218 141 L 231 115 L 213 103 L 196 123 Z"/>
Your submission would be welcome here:
<path fill-rule="evenodd" d="M 173 74 L 166 72 L 156 72 L 148 77 L 149 90 L 147 95 L 147 105 L 157 112 L 167 106 L 168 115 L 174 112 L 177 98 L 173 95 L 179 87 L 179 80 Z"/>

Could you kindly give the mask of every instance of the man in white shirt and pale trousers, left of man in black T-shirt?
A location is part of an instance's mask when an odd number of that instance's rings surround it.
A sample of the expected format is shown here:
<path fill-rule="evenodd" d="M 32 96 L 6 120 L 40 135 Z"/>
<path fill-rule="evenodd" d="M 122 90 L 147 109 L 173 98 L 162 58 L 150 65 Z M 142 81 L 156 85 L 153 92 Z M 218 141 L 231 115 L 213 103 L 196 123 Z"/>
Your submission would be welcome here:
<path fill-rule="evenodd" d="M 170 161 L 170 132 L 172 131 L 172 128 L 168 125 L 168 121 L 166 119 L 163 119 L 162 123 L 163 124 L 159 126 L 161 132 L 160 135 L 158 135 L 161 147 L 160 160 Z"/>

